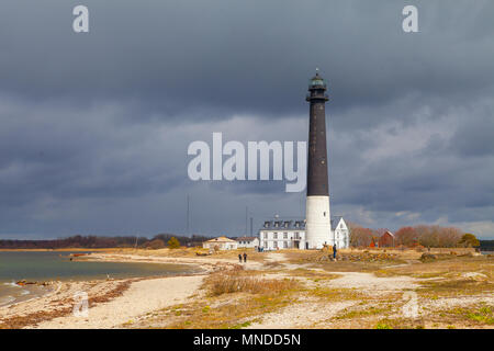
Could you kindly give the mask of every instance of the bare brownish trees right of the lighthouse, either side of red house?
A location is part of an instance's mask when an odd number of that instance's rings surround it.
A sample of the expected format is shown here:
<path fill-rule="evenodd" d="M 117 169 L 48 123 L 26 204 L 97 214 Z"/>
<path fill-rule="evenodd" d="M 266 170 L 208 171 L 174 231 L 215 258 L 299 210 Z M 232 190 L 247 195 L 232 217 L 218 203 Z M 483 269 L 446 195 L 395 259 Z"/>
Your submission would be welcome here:
<path fill-rule="evenodd" d="M 388 231 L 385 228 L 371 229 L 350 223 L 350 246 L 369 247 L 377 245 L 379 238 Z M 480 242 L 472 234 L 459 228 L 438 225 L 417 225 L 402 227 L 394 233 L 394 246 L 423 246 L 428 248 L 479 247 Z"/>

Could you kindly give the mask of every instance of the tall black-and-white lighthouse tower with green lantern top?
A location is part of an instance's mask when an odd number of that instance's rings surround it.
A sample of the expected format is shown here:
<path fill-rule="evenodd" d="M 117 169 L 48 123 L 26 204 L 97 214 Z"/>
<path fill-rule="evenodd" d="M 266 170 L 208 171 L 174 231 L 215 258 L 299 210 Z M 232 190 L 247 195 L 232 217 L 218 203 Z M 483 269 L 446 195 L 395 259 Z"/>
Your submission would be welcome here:
<path fill-rule="evenodd" d="M 326 80 L 316 75 L 310 80 L 306 101 L 310 103 L 308 158 L 307 158 L 307 200 L 306 249 L 321 249 L 332 240 L 329 214 L 329 189 L 327 181 L 326 149 Z"/>

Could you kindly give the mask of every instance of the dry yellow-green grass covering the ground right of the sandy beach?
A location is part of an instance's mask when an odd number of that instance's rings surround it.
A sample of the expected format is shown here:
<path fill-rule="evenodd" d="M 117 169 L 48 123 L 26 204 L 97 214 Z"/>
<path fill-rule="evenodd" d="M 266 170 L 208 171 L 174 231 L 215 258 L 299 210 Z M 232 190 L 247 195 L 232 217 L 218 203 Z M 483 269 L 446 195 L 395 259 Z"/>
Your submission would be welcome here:
<path fill-rule="evenodd" d="M 216 272 L 204 279 L 202 299 L 170 307 L 153 315 L 147 326 L 165 328 L 233 328 L 256 326 L 267 314 L 278 313 L 301 302 L 329 304 L 349 302 L 346 309 L 314 320 L 315 326 L 330 328 L 420 329 L 420 328 L 492 328 L 491 305 L 445 308 L 444 298 L 471 296 L 471 303 L 494 291 L 493 258 L 459 257 L 422 263 L 408 261 L 406 265 L 390 267 L 390 262 L 318 262 L 311 258 L 316 251 L 283 251 L 290 262 L 304 265 L 290 270 L 279 262 L 266 264 L 262 270 L 234 270 Z M 420 253 L 422 254 L 422 253 Z M 317 270 L 314 270 L 317 269 Z M 402 315 L 405 290 L 373 294 L 361 288 L 336 288 L 330 280 L 335 272 L 373 272 L 378 276 L 407 275 L 417 279 L 420 316 Z M 467 275 L 467 273 L 482 275 Z M 288 278 L 278 278 L 278 276 Z M 318 282 L 312 284 L 311 281 Z M 306 283 L 306 284 L 304 284 Z M 478 296 L 480 295 L 480 296 Z M 479 297 L 479 299 L 478 299 Z M 437 301 L 437 302 L 436 302 Z M 470 299 L 469 299 L 470 301 Z M 448 302 L 447 302 L 448 303 Z M 454 302 L 453 303 L 458 303 Z M 346 303 L 347 304 L 347 303 Z M 272 315 L 271 315 L 272 316 Z M 324 318 L 324 317 L 322 317 Z"/>

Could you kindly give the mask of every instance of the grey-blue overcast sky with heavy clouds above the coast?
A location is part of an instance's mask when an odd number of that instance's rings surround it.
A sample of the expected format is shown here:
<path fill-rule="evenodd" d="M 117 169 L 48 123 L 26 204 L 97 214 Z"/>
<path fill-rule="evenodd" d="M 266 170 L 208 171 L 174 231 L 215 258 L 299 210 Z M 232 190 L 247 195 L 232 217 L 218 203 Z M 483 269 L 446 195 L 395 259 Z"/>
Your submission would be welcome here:
<path fill-rule="evenodd" d="M 90 32 L 72 31 L 85 4 Z M 418 33 L 402 9 L 418 8 Z M 2 0 L 0 238 L 238 236 L 304 216 L 283 182 L 193 182 L 191 141 L 306 140 L 332 214 L 494 238 L 494 1 Z"/>

